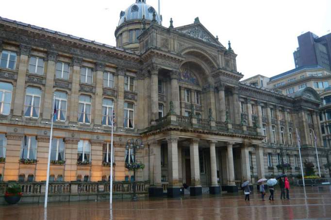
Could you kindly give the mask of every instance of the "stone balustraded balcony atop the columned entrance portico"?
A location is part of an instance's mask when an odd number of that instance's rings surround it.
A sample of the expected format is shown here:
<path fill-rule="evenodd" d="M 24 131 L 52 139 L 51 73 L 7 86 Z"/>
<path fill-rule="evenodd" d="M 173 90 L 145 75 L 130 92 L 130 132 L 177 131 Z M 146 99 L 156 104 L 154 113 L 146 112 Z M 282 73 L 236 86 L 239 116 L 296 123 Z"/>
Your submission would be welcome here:
<path fill-rule="evenodd" d="M 150 126 L 143 135 L 166 130 L 183 130 L 185 132 L 214 134 L 214 135 L 240 135 L 254 139 L 263 139 L 261 129 L 243 124 L 232 124 L 226 121 L 215 121 L 196 117 L 187 117 L 176 114 L 167 114 L 155 120 L 155 125 Z"/>

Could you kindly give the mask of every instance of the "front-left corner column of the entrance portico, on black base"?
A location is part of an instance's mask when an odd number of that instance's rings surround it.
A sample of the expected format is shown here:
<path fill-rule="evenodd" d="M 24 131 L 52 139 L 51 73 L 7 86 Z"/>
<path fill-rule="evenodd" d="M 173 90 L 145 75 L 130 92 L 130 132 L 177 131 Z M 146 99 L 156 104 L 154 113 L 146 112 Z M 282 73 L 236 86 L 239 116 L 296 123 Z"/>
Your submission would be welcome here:
<path fill-rule="evenodd" d="M 179 197 L 180 190 L 178 182 L 178 138 L 169 137 L 168 142 L 168 197 Z"/>

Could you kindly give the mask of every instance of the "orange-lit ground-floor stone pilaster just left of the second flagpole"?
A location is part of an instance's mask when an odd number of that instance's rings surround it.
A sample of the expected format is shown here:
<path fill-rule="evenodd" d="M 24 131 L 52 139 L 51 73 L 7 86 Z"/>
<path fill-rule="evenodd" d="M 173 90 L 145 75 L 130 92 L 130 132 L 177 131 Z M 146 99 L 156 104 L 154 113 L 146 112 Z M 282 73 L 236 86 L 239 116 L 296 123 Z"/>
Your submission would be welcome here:
<path fill-rule="evenodd" d="M 102 147 L 103 147 L 103 143 L 104 143 L 103 140 L 91 140 L 91 162 L 92 162 L 91 181 L 92 182 L 98 182 L 98 181 L 102 180 Z"/>

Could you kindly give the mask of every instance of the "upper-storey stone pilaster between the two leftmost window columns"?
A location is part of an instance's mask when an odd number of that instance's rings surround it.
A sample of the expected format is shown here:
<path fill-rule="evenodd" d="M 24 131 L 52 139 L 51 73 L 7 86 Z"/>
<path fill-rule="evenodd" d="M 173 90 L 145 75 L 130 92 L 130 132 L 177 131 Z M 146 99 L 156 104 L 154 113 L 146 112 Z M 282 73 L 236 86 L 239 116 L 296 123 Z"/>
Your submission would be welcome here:
<path fill-rule="evenodd" d="M 25 94 L 25 78 L 26 72 L 29 65 L 29 56 L 31 47 L 20 45 L 19 46 L 19 66 L 17 74 L 17 83 L 15 89 L 15 100 L 14 100 L 14 111 L 13 116 L 22 117 L 23 106 L 24 106 L 24 94 Z M 18 63 L 18 62 L 17 62 Z"/>

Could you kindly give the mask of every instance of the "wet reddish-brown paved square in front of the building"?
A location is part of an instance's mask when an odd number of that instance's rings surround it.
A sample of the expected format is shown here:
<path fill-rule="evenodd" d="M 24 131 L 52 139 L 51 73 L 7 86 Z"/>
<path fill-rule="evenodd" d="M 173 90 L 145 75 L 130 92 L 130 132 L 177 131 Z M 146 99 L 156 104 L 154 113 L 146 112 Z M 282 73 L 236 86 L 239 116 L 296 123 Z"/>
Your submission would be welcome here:
<path fill-rule="evenodd" d="M 280 190 L 276 189 L 275 200 L 269 201 L 268 193 L 265 201 L 254 194 L 249 202 L 242 192 L 137 202 L 116 200 L 112 212 L 109 201 L 49 203 L 46 215 L 43 204 L 6 205 L 0 206 L 0 220 L 331 220 L 330 191 L 315 192 L 308 187 L 306 200 L 302 188 L 290 191 L 291 200 L 280 200 Z"/>

